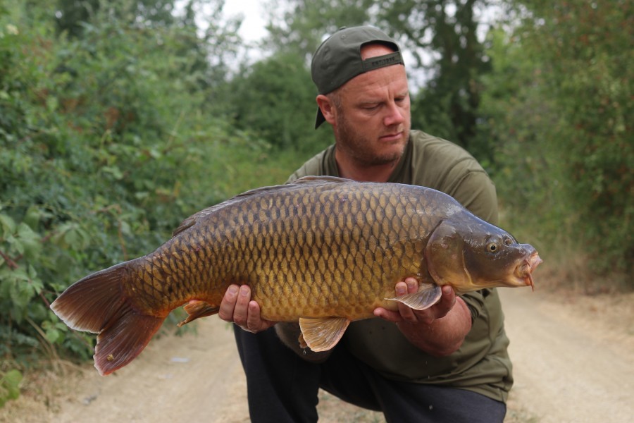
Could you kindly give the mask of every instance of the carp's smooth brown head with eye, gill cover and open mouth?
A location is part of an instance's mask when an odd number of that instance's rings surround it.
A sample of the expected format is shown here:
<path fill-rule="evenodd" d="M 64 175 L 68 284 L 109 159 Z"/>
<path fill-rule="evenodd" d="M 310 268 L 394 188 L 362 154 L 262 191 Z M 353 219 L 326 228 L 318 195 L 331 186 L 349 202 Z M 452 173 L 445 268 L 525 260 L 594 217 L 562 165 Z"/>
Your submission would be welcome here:
<path fill-rule="evenodd" d="M 428 271 L 456 293 L 494 287 L 530 286 L 542 262 L 535 248 L 473 215 L 442 221 L 425 249 Z"/>

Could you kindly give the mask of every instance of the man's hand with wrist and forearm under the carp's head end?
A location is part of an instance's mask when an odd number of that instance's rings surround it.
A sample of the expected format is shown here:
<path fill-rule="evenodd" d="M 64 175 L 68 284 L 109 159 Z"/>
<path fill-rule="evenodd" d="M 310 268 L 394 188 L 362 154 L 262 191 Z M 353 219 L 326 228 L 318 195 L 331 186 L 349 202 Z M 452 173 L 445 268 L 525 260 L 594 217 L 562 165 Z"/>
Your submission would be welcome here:
<path fill-rule="evenodd" d="M 396 285 L 396 294 L 416 293 L 418 281 L 406 278 Z M 471 330 L 471 312 L 450 286 L 442 287 L 442 296 L 433 306 L 425 310 L 415 310 L 398 303 L 398 311 L 392 312 L 378 307 L 374 315 L 394 322 L 401 333 L 417 348 L 443 357 L 454 353 Z"/>

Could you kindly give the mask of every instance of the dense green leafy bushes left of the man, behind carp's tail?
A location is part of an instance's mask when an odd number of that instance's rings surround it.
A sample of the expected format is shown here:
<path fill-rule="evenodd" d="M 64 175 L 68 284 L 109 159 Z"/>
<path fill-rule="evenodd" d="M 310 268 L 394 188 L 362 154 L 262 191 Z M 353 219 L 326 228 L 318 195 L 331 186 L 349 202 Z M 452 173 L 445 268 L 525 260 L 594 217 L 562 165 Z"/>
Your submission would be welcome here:
<path fill-rule="evenodd" d="M 226 64 L 206 55 L 235 51 L 234 23 L 199 35 L 187 15 L 139 23 L 132 4 L 100 2 L 73 37 L 51 6 L 0 12 L 0 356 L 20 368 L 92 355 L 49 310 L 70 283 L 300 164 L 268 171 L 271 147 L 208 106 Z"/>

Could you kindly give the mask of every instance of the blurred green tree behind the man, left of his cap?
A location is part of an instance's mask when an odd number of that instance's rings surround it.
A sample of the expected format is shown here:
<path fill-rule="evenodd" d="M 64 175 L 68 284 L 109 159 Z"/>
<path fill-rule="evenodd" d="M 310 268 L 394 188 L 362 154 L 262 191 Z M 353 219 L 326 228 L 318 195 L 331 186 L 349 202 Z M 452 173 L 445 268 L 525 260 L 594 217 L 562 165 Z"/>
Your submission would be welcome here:
<path fill-rule="evenodd" d="M 228 109 L 237 127 L 254 131 L 277 149 L 308 154 L 330 144 L 330 130 L 314 128 L 311 55 L 324 34 L 365 23 L 370 5 L 367 0 L 271 1 L 269 36 L 261 42 L 271 56 L 242 69 L 230 85 L 234 100 Z"/>

